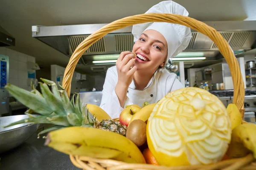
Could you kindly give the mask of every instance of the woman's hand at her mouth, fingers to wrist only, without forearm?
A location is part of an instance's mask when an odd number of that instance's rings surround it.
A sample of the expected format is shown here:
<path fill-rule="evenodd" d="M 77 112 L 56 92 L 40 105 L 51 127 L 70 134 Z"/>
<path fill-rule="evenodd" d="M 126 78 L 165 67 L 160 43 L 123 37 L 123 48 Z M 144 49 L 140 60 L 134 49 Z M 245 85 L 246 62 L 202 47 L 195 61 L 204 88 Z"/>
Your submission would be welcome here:
<path fill-rule="evenodd" d="M 124 51 L 119 55 L 116 61 L 118 84 L 124 85 L 125 87 L 129 87 L 134 77 L 134 73 L 137 70 L 137 67 L 134 66 L 135 59 L 136 54 L 130 51 Z"/>

